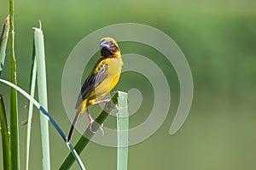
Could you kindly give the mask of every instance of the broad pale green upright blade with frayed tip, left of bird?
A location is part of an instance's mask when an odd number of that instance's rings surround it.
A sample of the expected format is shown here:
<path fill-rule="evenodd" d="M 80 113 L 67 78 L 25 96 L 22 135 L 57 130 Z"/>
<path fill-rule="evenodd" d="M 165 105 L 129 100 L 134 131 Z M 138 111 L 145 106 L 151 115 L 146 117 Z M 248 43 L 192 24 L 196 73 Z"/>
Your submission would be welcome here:
<path fill-rule="evenodd" d="M 48 110 L 47 103 L 47 86 L 46 86 L 46 71 L 45 71 L 45 54 L 44 54 L 44 35 L 40 28 L 33 28 L 34 30 L 34 44 L 36 61 L 38 65 L 38 100 L 39 103 Z M 40 114 L 41 127 L 41 142 L 43 152 L 43 170 L 50 169 L 49 157 L 49 124 L 47 118 Z"/>

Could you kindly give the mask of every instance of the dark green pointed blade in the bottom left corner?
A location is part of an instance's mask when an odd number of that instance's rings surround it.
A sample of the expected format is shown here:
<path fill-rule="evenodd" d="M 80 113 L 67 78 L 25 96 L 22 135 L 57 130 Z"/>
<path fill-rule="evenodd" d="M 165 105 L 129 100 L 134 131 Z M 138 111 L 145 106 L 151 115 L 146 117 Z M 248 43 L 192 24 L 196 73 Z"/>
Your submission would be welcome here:
<path fill-rule="evenodd" d="M 3 95 L 0 94 L 0 124 L 1 124 L 1 134 L 2 134 L 2 144 L 3 144 L 3 169 L 9 170 L 11 168 L 10 160 L 10 148 L 9 148 L 9 134 L 8 125 L 5 114 L 5 109 L 3 105 Z"/>

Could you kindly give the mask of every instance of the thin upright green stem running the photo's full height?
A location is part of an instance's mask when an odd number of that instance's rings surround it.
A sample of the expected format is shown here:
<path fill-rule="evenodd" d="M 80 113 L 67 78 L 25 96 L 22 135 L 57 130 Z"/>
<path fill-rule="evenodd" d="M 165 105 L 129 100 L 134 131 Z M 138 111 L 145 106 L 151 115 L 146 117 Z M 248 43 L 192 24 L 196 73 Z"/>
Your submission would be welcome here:
<path fill-rule="evenodd" d="M 16 60 L 15 60 L 15 23 L 14 23 L 14 0 L 9 0 L 9 32 L 10 32 L 10 79 L 17 84 Z M 11 148 L 11 168 L 20 170 L 20 145 L 19 145 L 19 124 L 18 124 L 18 100 L 17 91 L 11 88 L 10 94 L 10 148 Z"/>

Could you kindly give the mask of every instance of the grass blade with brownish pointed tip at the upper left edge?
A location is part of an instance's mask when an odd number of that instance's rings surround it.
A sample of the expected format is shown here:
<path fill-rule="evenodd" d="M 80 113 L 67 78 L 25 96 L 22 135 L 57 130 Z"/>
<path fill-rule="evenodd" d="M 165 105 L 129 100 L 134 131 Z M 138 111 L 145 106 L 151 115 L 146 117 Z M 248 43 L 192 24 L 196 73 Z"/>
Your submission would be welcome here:
<path fill-rule="evenodd" d="M 3 64 L 5 59 L 5 52 L 6 52 L 8 37 L 9 37 L 9 16 L 3 23 L 3 29 L 0 36 L 0 77 L 3 71 Z"/>

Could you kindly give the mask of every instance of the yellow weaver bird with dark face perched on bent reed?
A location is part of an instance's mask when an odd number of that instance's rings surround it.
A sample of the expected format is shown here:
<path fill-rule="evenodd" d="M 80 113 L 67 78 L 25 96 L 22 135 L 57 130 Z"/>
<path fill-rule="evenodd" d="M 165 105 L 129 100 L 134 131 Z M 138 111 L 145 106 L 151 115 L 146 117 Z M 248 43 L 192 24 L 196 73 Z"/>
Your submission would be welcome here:
<path fill-rule="evenodd" d="M 108 103 L 109 99 L 101 100 L 105 97 L 119 82 L 123 60 L 117 42 L 111 37 L 103 37 L 100 42 L 101 58 L 96 62 L 96 65 L 90 71 L 89 76 L 85 79 L 81 88 L 79 99 L 77 100 L 75 109 L 76 116 L 74 117 L 72 127 L 70 128 L 67 142 L 70 141 L 73 129 L 79 117 L 86 111 L 90 122 L 90 131 L 93 123 L 88 108 L 90 105 L 100 103 Z"/>

